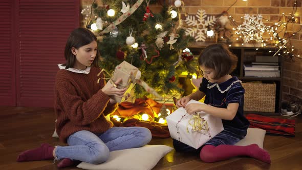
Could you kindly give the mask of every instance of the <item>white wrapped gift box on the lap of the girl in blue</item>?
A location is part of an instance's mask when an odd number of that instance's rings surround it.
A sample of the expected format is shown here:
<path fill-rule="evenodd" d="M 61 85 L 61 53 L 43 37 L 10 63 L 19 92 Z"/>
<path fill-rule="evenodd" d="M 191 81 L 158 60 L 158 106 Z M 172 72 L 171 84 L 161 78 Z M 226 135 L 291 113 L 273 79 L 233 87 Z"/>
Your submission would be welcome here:
<path fill-rule="evenodd" d="M 188 104 L 189 103 L 201 102 L 190 100 Z M 200 112 L 199 116 L 206 121 L 209 129 L 208 131 L 193 131 L 192 125 L 190 125 L 193 124 L 193 120 L 190 120 L 193 117 L 193 114 L 187 114 L 184 108 L 179 108 L 167 116 L 166 120 L 171 138 L 180 140 L 182 143 L 198 149 L 212 137 L 224 130 L 221 118 L 214 117 L 205 112 Z"/>

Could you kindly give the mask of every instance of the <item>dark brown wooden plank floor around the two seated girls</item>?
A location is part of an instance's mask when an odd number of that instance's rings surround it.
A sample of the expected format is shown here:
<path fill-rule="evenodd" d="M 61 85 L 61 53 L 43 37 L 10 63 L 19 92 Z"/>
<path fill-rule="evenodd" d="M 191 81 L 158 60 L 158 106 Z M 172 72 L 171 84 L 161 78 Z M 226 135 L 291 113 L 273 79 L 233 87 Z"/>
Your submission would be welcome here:
<path fill-rule="evenodd" d="M 0 107 L 0 110 L 0 169 L 58 169 L 52 160 L 16 162 L 20 152 L 40 143 L 60 144 L 57 138 L 51 137 L 55 120 L 53 109 Z M 197 156 L 172 151 L 154 169 L 302 169 L 302 116 L 295 119 L 295 137 L 266 135 L 264 148 L 271 155 L 271 164 L 247 157 L 204 163 Z M 170 138 L 153 139 L 149 144 L 172 146 L 171 141 Z"/>

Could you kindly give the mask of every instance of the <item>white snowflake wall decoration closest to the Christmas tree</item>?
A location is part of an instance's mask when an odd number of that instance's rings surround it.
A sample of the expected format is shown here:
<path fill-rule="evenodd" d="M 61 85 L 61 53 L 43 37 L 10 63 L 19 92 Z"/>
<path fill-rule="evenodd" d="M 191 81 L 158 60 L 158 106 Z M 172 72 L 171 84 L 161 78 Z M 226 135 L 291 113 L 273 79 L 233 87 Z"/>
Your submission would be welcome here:
<path fill-rule="evenodd" d="M 196 19 L 197 18 L 197 19 Z M 188 15 L 186 17 L 186 24 L 196 28 L 187 28 L 185 30 L 186 35 L 190 35 L 195 38 L 196 41 L 205 41 L 207 36 L 207 26 L 215 23 L 215 16 L 207 16 L 205 10 L 198 10 L 195 16 Z"/>

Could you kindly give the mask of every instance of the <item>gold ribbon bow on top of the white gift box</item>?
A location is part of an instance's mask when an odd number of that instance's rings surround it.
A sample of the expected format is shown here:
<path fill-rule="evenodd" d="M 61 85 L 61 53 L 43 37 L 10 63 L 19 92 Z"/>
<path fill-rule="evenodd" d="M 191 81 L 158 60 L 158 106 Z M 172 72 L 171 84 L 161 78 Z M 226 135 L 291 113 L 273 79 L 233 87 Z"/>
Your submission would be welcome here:
<path fill-rule="evenodd" d="M 193 114 L 188 122 L 189 122 L 189 125 L 192 126 L 192 131 L 197 131 L 200 133 L 202 133 L 203 131 L 206 131 L 209 133 L 208 122 L 204 118 L 202 118 L 199 115 L 199 113 Z M 188 126 L 187 126 L 187 133 L 189 133 Z"/>

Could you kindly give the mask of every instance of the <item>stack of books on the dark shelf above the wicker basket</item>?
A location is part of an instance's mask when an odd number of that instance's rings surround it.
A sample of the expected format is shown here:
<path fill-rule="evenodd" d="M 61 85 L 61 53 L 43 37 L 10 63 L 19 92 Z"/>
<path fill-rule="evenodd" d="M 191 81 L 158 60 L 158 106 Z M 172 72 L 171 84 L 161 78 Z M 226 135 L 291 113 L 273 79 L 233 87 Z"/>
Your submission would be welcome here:
<path fill-rule="evenodd" d="M 256 56 L 255 62 L 244 65 L 246 77 L 280 77 L 278 57 Z"/>

